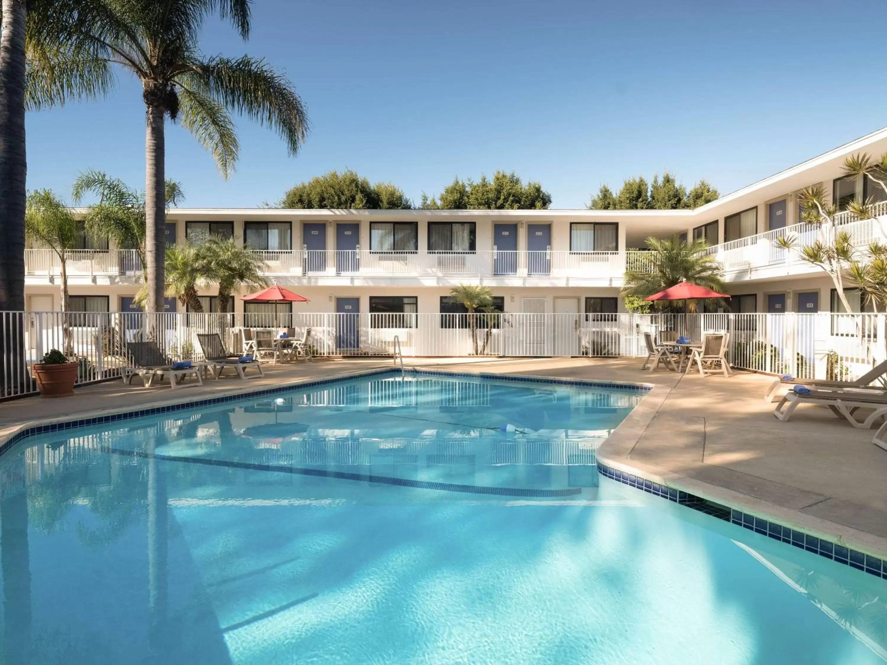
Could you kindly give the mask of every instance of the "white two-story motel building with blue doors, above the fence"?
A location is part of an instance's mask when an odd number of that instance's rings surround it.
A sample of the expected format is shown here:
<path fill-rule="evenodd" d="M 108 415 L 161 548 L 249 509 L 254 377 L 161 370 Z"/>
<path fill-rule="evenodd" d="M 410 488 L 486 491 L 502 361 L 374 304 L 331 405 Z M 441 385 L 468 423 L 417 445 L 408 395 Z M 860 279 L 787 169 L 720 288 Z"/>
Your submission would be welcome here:
<path fill-rule="evenodd" d="M 726 270 L 728 307 L 740 312 L 839 311 L 821 270 L 773 246 L 799 222 L 797 192 L 821 184 L 843 208 L 871 197 L 887 217 L 887 194 L 844 177 L 844 158 L 887 152 L 881 129 L 695 210 L 287 210 L 177 208 L 168 242 L 233 236 L 263 254 L 267 278 L 310 299 L 310 312 L 455 312 L 447 295 L 459 284 L 490 286 L 506 312 L 616 312 L 635 248 L 649 236 L 707 239 Z M 842 221 L 860 245 L 881 238 L 878 221 Z M 883 220 L 882 217 L 882 220 Z M 131 250 L 82 238 L 68 261 L 70 308 L 131 311 L 141 269 Z M 27 249 L 27 309 L 59 309 L 59 266 L 50 250 Z M 850 294 L 852 302 L 854 300 Z M 216 311 L 215 292 L 201 292 Z M 236 312 L 289 311 L 244 303 Z M 166 303 L 168 311 L 183 308 Z M 232 311 L 229 308 L 229 311 Z"/>

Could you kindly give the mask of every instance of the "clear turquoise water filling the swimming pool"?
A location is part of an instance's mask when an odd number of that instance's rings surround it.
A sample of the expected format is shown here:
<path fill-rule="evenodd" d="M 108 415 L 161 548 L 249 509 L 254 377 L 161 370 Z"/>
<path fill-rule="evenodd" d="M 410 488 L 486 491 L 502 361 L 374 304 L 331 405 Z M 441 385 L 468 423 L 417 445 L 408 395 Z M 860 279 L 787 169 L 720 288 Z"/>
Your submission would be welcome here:
<path fill-rule="evenodd" d="M 27 439 L 0 661 L 885 661 L 887 583 L 600 478 L 642 397 L 386 375 Z"/>

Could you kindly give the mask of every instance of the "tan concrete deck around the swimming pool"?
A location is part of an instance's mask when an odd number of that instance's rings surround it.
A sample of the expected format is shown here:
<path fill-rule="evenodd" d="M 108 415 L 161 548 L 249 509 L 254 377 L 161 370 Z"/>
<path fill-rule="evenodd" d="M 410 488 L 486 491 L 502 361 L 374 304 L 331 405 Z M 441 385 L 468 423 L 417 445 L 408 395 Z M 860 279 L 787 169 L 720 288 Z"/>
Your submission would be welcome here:
<path fill-rule="evenodd" d="M 789 422 L 773 418 L 775 404 L 762 399 L 772 377 L 640 372 L 641 360 L 635 358 L 414 358 L 404 363 L 428 370 L 650 384 L 650 394 L 601 445 L 602 463 L 862 552 L 887 555 L 887 451 L 872 444 L 872 431 L 854 429 L 822 407 L 803 406 Z M 78 388 L 64 399 L 28 397 L 0 403 L 0 442 L 35 424 L 391 367 L 390 359 L 318 360 L 266 367 L 263 379 L 208 380 L 203 387 L 175 391 L 114 381 Z"/>

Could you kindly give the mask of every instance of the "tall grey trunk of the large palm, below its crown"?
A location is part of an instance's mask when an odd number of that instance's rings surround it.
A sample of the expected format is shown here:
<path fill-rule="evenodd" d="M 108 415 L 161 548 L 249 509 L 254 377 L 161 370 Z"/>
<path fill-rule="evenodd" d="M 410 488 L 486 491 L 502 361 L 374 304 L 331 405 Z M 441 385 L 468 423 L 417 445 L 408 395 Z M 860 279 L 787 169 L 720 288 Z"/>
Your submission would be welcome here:
<path fill-rule="evenodd" d="M 163 108 L 148 105 L 145 122 L 145 275 L 147 309 L 163 311 L 164 258 L 166 239 L 166 145 L 163 137 Z"/>

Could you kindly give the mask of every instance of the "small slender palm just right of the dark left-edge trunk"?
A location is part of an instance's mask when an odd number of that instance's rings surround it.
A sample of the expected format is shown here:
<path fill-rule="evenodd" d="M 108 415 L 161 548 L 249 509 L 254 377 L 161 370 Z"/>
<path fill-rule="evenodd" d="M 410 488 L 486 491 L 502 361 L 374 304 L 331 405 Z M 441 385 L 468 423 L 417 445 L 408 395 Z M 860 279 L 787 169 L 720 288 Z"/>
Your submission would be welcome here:
<path fill-rule="evenodd" d="M 59 257 L 61 272 L 61 325 L 67 356 L 73 354 L 70 321 L 68 321 L 67 253 L 76 249 L 80 229 L 71 210 L 49 190 L 31 192 L 27 197 L 25 231 L 36 243 L 51 249 Z"/>

